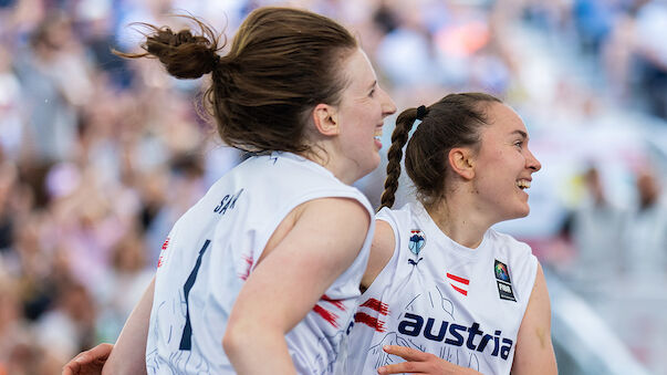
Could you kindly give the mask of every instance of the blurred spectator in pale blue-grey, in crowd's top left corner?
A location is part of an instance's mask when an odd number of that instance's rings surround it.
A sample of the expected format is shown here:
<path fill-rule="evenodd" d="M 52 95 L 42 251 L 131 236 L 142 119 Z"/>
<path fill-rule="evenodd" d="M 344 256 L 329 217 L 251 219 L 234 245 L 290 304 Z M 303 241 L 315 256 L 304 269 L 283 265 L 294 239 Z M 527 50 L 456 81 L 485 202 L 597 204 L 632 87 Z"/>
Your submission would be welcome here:
<path fill-rule="evenodd" d="M 76 107 L 91 95 L 87 61 L 71 21 L 50 14 L 33 32 L 14 67 L 23 87 L 31 155 L 41 163 L 66 160 L 74 148 Z"/>

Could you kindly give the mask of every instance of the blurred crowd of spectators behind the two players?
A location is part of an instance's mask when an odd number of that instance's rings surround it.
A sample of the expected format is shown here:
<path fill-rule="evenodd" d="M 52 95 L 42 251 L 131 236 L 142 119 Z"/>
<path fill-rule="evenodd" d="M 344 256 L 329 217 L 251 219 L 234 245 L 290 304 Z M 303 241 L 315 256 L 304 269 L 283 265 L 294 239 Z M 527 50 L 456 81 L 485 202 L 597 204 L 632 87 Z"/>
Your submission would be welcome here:
<path fill-rule="evenodd" d="M 1 375 L 115 341 L 170 226 L 241 157 L 195 112 L 205 80 L 111 53 L 136 50 L 128 23 L 231 38 L 264 4 L 354 30 L 398 108 L 513 106 L 543 168 L 498 227 L 545 269 L 561 374 L 667 374 L 666 0 L 0 0 Z M 383 179 L 358 181 L 375 205 Z"/>

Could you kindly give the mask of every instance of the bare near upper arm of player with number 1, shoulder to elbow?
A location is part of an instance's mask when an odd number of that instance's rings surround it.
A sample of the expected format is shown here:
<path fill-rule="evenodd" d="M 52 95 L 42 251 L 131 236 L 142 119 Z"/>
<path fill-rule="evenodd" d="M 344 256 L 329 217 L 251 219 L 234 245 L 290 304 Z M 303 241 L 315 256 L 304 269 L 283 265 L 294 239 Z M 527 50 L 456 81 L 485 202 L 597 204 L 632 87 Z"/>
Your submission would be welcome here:
<path fill-rule="evenodd" d="M 228 332 L 271 330 L 284 335 L 357 257 L 371 225 L 359 202 L 323 198 L 302 206 L 293 227 L 246 281 Z"/>

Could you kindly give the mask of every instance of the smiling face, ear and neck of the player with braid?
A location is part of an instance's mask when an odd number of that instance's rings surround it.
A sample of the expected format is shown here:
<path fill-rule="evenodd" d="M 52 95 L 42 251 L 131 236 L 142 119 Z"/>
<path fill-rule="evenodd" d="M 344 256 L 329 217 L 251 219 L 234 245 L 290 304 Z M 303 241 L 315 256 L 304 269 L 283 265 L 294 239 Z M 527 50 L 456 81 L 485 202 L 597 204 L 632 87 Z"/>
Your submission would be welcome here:
<path fill-rule="evenodd" d="M 456 242 L 475 249 L 493 225 L 529 213 L 532 174 L 542 167 L 528 148 L 528 132 L 517 113 L 501 103 L 484 111 L 479 143 L 449 152 L 442 199 L 426 207 Z"/>

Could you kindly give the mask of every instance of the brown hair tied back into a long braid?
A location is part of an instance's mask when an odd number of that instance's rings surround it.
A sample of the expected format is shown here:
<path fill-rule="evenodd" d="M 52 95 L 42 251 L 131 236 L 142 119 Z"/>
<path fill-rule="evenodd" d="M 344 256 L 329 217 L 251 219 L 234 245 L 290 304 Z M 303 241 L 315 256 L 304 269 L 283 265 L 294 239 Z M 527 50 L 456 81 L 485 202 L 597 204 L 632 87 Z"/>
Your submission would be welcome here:
<path fill-rule="evenodd" d="M 417 108 L 406 110 L 398 115 L 387 154 L 389 163 L 379 208 L 394 206 L 406 142 L 405 169 L 415 184 L 417 198 L 425 205 L 440 198 L 445 190 L 449 150 L 479 143 L 479 129 L 488 124 L 482 104 L 493 102 L 502 103 L 483 93 L 449 94 L 426 107 L 421 124 L 409 142 L 408 134 L 417 119 Z"/>

